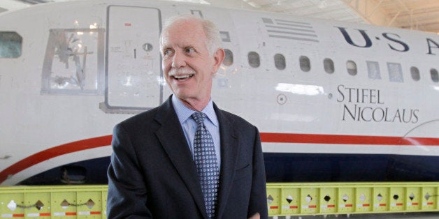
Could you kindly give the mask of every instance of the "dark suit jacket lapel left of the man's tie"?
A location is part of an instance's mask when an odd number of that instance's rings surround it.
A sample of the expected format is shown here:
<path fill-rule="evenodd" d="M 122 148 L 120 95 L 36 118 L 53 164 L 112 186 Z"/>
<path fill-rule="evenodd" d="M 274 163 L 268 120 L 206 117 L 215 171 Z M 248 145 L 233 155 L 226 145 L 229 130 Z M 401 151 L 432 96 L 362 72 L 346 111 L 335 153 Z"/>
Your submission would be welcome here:
<path fill-rule="evenodd" d="M 187 140 L 180 126 L 180 121 L 173 109 L 171 98 L 161 105 L 156 121 L 161 123 L 161 127 L 157 130 L 156 136 L 159 138 L 161 145 L 168 154 L 171 162 L 182 181 L 185 182 L 187 189 L 191 192 L 196 205 L 199 207 L 203 216 L 207 218 L 206 208 L 204 206 L 203 192 L 199 183 L 198 175 L 192 154 L 187 145 Z"/>

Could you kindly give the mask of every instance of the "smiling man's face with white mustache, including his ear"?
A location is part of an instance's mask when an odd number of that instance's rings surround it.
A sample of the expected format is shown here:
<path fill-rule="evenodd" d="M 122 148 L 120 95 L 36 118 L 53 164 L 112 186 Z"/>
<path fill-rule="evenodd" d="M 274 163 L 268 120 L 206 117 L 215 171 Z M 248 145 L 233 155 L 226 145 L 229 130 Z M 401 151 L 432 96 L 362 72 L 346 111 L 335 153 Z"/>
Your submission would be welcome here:
<path fill-rule="evenodd" d="M 208 102 L 220 63 L 208 52 L 201 24 L 196 20 L 175 22 L 163 33 L 161 45 L 164 77 L 175 96 L 189 103 Z"/>

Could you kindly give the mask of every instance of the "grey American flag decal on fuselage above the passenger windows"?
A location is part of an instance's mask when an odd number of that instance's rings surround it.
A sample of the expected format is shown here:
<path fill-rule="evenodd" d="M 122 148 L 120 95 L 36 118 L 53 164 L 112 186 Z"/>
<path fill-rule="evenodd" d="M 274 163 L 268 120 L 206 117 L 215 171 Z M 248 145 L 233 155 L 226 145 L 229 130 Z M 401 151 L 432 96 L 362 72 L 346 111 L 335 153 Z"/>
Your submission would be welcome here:
<path fill-rule="evenodd" d="M 269 37 L 319 43 L 310 23 L 262 17 Z"/>

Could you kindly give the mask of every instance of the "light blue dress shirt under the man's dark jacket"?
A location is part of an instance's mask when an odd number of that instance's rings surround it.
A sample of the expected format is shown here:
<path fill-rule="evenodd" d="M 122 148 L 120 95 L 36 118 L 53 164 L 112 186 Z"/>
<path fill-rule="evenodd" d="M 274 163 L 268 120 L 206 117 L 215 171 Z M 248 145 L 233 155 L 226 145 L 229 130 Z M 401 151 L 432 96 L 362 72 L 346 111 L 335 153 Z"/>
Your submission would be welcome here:
<path fill-rule="evenodd" d="M 189 109 L 180 99 L 175 95 L 172 95 L 172 105 L 177 113 L 178 120 L 180 121 L 183 132 L 189 145 L 189 150 L 192 153 L 192 160 L 194 160 L 194 137 L 196 132 L 196 121 L 192 119 L 192 114 L 194 110 Z M 209 101 L 208 105 L 204 107 L 201 112 L 205 113 L 208 119 L 204 120 L 204 126 L 209 130 L 210 135 L 212 135 L 213 144 L 215 145 L 215 154 L 217 156 L 218 168 L 221 167 L 221 149 L 219 141 L 219 123 L 217 119 L 217 114 L 213 110 L 213 102 Z"/>

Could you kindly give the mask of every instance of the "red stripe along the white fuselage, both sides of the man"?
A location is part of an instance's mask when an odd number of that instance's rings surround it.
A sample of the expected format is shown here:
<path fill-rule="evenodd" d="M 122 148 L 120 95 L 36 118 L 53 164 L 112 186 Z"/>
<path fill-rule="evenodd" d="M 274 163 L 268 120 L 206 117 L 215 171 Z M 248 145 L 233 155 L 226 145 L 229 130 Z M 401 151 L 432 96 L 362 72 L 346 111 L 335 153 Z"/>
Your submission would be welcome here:
<path fill-rule="evenodd" d="M 35 153 L 0 172 L 0 183 L 8 176 L 21 172 L 45 160 L 62 156 L 66 153 L 94 149 L 111 144 L 111 135 L 83 139 L 46 149 Z M 431 137 L 384 137 L 364 135 L 315 135 L 288 133 L 261 133 L 261 142 L 271 143 L 307 143 L 307 144 L 373 144 L 373 145 L 439 145 L 439 138 Z"/>

